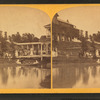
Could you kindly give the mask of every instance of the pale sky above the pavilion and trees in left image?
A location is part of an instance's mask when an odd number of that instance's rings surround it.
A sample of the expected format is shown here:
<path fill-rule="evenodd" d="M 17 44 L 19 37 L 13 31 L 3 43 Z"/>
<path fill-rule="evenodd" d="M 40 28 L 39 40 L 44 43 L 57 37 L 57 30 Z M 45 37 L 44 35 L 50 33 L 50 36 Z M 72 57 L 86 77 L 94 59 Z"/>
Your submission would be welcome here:
<path fill-rule="evenodd" d="M 19 32 L 33 33 L 36 37 L 46 34 L 45 25 L 50 24 L 49 16 L 38 9 L 28 7 L 0 7 L 0 31 L 8 35 Z"/>

